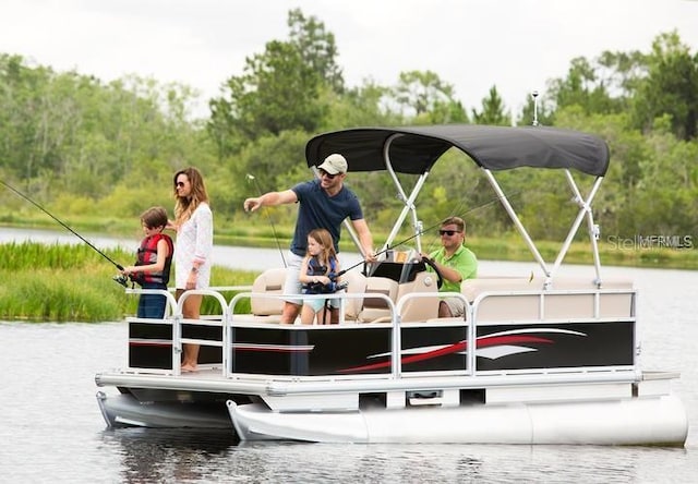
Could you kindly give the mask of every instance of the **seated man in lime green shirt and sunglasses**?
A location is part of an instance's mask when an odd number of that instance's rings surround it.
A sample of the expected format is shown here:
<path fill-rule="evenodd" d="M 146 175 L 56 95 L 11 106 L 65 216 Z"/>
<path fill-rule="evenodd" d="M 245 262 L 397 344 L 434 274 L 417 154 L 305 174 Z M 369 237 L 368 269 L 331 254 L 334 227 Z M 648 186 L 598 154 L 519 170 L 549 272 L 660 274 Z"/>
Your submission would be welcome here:
<path fill-rule="evenodd" d="M 472 251 L 464 245 L 466 222 L 460 217 L 448 217 L 438 229 L 442 247 L 429 254 L 429 257 L 444 278 L 440 292 L 460 292 L 460 282 L 478 277 L 478 259 Z M 428 270 L 432 270 L 428 267 Z M 462 299 L 444 298 L 438 303 L 438 317 L 460 317 L 465 315 Z"/>

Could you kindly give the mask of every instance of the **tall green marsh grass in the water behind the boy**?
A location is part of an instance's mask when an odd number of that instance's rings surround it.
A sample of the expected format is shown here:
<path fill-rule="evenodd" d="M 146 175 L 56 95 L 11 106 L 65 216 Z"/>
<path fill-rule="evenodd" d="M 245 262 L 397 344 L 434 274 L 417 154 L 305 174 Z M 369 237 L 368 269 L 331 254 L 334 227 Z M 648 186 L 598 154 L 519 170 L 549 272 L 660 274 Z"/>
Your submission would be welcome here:
<path fill-rule="evenodd" d="M 131 264 L 121 249 L 103 251 Z M 116 267 L 87 245 L 36 242 L 0 244 L 0 318 L 51 322 L 119 320 L 135 314 L 137 297 L 112 280 Z M 213 286 L 251 285 L 255 274 L 214 267 Z M 172 268 L 171 282 L 174 279 Z M 212 311 L 205 298 L 203 311 Z M 249 305 L 249 303 L 248 303 Z M 237 311 L 245 311 L 244 305 Z"/>

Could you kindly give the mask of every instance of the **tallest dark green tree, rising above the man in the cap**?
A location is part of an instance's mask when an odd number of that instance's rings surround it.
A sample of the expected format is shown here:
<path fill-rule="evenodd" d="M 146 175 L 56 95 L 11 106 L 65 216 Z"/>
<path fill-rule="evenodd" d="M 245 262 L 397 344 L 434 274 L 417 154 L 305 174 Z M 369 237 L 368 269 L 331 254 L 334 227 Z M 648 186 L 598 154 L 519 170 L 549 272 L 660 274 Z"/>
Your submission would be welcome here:
<path fill-rule="evenodd" d="M 208 131 L 221 158 L 260 136 L 315 131 L 327 114 L 326 92 L 345 90 L 334 35 L 299 9 L 289 12 L 288 26 L 289 40 L 267 43 L 210 100 Z"/>

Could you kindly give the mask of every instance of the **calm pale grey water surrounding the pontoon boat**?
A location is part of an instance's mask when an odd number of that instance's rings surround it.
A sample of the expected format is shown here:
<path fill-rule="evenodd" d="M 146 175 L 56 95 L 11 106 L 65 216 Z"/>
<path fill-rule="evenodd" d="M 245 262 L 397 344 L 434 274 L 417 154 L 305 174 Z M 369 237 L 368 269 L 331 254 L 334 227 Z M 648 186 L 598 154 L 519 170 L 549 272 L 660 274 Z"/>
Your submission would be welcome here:
<path fill-rule="evenodd" d="M 17 234 L 0 230 L 0 242 Z M 113 243 L 91 241 L 99 247 Z M 216 251 L 219 263 L 234 267 L 241 266 L 238 261 L 254 270 L 280 265 L 278 251 Z M 531 269 L 481 264 L 482 275 Z M 582 270 L 589 274 L 569 269 Z M 698 273 L 606 268 L 603 274 L 633 278 L 640 290 L 643 366 L 682 373 L 674 389 L 690 421 L 685 448 L 240 445 L 231 434 L 212 431 L 108 431 L 94 376 L 123 365 L 125 325 L 0 323 L 0 475 L 17 483 L 698 482 Z"/>

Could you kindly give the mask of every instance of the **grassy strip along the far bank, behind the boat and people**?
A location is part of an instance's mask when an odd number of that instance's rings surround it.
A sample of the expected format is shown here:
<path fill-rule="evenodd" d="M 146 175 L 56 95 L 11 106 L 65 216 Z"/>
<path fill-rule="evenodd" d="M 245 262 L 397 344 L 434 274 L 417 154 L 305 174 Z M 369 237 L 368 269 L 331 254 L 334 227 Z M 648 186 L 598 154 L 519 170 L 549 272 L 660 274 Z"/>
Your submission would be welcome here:
<path fill-rule="evenodd" d="M 62 220 L 67 222 L 67 220 Z M 242 247 L 264 247 L 277 249 L 282 251 L 288 249 L 289 242 L 293 237 L 293 227 L 285 227 L 276 225 L 274 228 L 265 220 L 257 222 L 242 222 L 240 220 L 215 220 L 214 243 L 217 245 L 242 246 Z M 88 234 L 86 237 L 113 237 L 113 238 L 132 238 L 140 241 L 143 237 L 140 226 L 134 226 L 133 220 L 124 220 L 119 218 L 87 218 L 80 217 L 72 219 L 67 223 L 75 232 L 80 234 Z M 12 221 L 0 220 L 0 227 L 17 228 L 28 230 L 47 230 L 47 231 L 65 231 L 59 227 L 53 220 L 39 214 L 38 216 L 27 216 L 23 214 L 20 219 Z M 371 227 L 373 240 L 377 246 L 386 238 L 386 233 L 377 230 L 375 226 Z M 593 259 L 589 249 L 589 239 L 580 229 L 575 241 L 571 243 L 564 264 L 593 264 Z M 395 245 L 401 241 L 409 241 L 405 244 L 410 246 L 412 242 L 412 233 L 401 231 L 396 237 L 390 249 L 400 249 Z M 75 238 L 77 241 L 79 239 Z M 557 241 L 534 241 L 538 250 L 546 262 L 552 262 L 557 256 L 562 242 Z M 428 231 L 422 234 L 422 243 L 429 249 L 433 244 L 437 244 L 437 235 L 430 235 Z M 510 261 L 527 262 L 532 261 L 533 256 L 518 233 L 510 232 L 496 238 L 474 237 L 468 234 L 466 244 L 482 261 Z M 683 237 L 663 237 L 661 234 L 635 234 L 633 237 L 618 237 L 614 234 L 601 234 L 598 241 L 599 254 L 603 266 L 621 266 L 621 267 L 642 267 L 658 269 L 698 269 L 698 239 L 690 234 Z M 434 245 L 435 246 L 435 245 Z M 351 239 L 345 235 L 340 243 L 341 251 L 356 251 Z M 134 254 L 129 254 L 125 261 L 133 258 Z M 174 273 L 172 273 L 172 278 Z M 252 283 L 252 282 L 250 282 Z"/>

